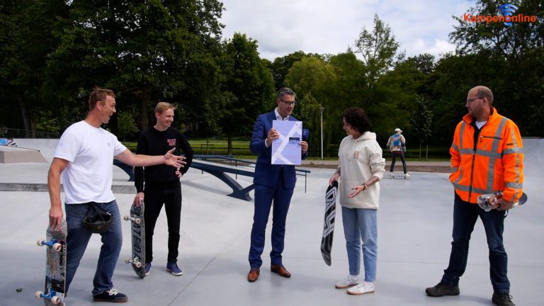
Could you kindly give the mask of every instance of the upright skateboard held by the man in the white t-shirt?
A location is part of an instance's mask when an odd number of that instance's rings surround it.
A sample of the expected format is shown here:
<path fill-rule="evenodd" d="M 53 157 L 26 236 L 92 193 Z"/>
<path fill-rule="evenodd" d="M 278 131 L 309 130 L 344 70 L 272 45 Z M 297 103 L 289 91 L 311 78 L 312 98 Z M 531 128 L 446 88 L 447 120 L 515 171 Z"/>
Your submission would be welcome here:
<path fill-rule="evenodd" d="M 35 297 L 42 298 L 46 306 L 65 306 L 66 285 L 66 221 L 62 219 L 59 232 L 47 227 L 45 240 L 38 240 L 38 246 L 46 246 L 45 289 L 37 291 Z"/>

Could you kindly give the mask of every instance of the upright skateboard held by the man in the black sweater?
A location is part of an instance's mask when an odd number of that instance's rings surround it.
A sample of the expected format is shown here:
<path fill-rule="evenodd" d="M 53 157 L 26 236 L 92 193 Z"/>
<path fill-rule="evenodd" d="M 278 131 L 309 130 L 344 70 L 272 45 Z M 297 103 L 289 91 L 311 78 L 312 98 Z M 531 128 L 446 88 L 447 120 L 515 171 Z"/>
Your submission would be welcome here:
<path fill-rule="evenodd" d="M 140 206 L 132 203 L 130 216 L 125 215 L 125 221 L 130 221 L 130 235 L 132 236 L 132 256 L 125 259 L 125 263 L 132 263 L 132 269 L 137 276 L 145 278 L 145 222 L 144 202 Z"/>

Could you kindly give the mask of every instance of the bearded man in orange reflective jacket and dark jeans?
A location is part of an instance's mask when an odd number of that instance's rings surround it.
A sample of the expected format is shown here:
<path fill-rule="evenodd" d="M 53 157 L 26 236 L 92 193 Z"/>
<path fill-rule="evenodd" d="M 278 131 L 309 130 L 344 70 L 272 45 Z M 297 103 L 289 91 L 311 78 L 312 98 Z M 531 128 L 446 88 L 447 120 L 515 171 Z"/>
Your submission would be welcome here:
<path fill-rule="evenodd" d="M 441 282 L 425 292 L 433 297 L 459 294 L 470 234 L 480 217 L 489 246 L 492 302 L 512 306 L 502 232 L 506 210 L 523 194 L 523 145 L 516 124 L 499 115 L 492 104 L 493 94 L 487 87 L 476 86 L 468 91 L 468 114 L 455 128 L 450 147 L 450 181 L 455 188 L 450 262 Z M 498 191 L 504 196 L 492 205 L 496 209 L 486 212 L 477 205 L 478 196 Z"/>

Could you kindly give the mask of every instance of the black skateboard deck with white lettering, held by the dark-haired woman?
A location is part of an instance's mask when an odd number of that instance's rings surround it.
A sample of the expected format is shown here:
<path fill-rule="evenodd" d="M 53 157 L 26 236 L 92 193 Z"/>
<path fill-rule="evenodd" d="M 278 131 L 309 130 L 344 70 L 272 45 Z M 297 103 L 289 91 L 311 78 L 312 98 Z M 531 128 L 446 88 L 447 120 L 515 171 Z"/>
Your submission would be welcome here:
<path fill-rule="evenodd" d="M 331 265 L 332 238 L 334 236 L 334 220 L 336 217 L 336 195 L 338 194 L 338 181 L 334 181 L 325 193 L 325 218 L 323 225 L 323 237 L 321 239 L 321 255 L 327 266 Z"/>

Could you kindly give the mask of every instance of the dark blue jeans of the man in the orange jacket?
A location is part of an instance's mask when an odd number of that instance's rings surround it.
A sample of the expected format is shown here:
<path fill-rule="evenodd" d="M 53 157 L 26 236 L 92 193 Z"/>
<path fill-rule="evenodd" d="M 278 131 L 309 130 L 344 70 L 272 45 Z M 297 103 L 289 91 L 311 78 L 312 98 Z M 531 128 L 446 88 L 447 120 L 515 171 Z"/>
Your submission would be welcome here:
<path fill-rule="evenodd" d="M 506 276 L 508 256 L 502 244 L 504 231 L 504 210 L 485 212 L 476 204 L 467 203 L 455 193 L 453 205 L 453 242 L 451 242 L 450 263 L 444 270 L 442 282 L 458 285 L 459 278 L 467 268 L 470 234 L 478 217 L 482 219 L 489 247 L 489 273 L 496 293 L 509 293 L 510 282 Z"/>

